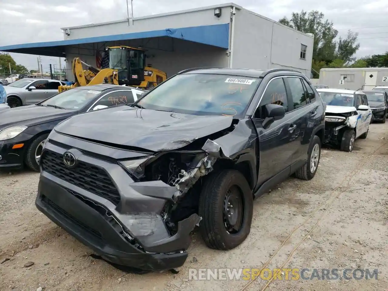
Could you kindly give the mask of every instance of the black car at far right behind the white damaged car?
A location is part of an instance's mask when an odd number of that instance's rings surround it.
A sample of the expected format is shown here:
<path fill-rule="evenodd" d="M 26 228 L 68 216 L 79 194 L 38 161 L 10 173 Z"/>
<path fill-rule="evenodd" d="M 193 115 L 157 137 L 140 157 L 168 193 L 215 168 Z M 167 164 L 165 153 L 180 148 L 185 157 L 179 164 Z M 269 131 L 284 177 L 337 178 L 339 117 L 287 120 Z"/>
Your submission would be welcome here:
<path fill-rule="evenodd" d="M 372 121 L 385 123 L 388 114 L 388 94 L 387 92 L 376 89 L 365 91 L 369 106 L 372 108 Z"/>

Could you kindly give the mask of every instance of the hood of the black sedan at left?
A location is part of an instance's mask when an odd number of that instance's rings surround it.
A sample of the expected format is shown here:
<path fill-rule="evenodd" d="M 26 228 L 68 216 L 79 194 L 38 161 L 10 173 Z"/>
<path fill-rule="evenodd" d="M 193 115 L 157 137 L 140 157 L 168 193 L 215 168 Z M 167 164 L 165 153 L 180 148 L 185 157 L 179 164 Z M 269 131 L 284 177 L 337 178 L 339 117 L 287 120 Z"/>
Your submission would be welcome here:
<path fill-rule="evenodd" d="M 33 126 L 54 120 L 62 120 L 75 111 L 37 105 L 20 106 L 0 111 L 0 129 L 9 126 Z"/>

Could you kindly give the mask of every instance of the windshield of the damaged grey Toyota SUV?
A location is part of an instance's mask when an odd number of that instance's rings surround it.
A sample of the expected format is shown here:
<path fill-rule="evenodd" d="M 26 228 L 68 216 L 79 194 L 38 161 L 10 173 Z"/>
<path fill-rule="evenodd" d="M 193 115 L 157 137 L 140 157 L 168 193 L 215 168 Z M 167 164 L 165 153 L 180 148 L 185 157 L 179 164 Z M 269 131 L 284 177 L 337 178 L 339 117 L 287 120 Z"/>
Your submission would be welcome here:
<path fill-rule="evenodd" d="M 246 109 L 259 83 L 241 76 L 182 74 L 155 87 L 139 105 L 184 114 L 235 116 Z"/>

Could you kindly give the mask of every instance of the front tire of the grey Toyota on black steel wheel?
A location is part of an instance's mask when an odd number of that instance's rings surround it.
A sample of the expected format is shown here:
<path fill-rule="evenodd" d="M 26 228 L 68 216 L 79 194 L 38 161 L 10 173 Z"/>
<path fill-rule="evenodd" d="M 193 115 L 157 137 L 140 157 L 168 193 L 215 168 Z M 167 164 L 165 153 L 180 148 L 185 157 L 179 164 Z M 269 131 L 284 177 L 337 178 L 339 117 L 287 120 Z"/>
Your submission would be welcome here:
<path fill-rule="evenodd" d="M 227 219 L 224 217 L 225 199 L 229 191 L 233 189 L 241 197 L 242 206 L 242 211 L 240 211 L 242 214 L 241 223 L 238 223 L 241 227 L 236 233 L 228 232 L 224 221 L 224 219 Z M 232 217 L 234 214 L 232 213 Z M 209 248 L 229 250 L 239 246 L 249 235 L 252 215 L 252 190 L 244 175 L 239 171 L 222 170 L 211 173 L 205 178 L 199 196 L 199 216 L 202 217 L 199 230 Z"/>

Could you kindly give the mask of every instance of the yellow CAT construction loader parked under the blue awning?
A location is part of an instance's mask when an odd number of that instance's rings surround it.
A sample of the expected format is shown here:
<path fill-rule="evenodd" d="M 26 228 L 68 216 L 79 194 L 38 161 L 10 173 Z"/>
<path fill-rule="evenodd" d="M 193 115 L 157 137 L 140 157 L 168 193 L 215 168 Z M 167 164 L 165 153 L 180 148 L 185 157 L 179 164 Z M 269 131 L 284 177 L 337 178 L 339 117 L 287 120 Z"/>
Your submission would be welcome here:
<path fill-rule="evenodd" d="M 102 63 L 109 68 L 97 69 L 76 57 L 72 70 L 75 83 L 59 86 L 59 92 L 79 86 L 114 84 L 149 90 L 167 79 L 167 74 L 145 66 L 145 50 L 133 47 L 107 47 Z M 86 69 L 83 69 L 83 66 Z"/>

